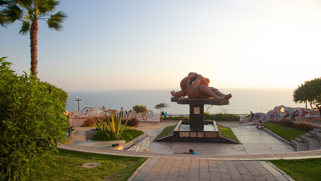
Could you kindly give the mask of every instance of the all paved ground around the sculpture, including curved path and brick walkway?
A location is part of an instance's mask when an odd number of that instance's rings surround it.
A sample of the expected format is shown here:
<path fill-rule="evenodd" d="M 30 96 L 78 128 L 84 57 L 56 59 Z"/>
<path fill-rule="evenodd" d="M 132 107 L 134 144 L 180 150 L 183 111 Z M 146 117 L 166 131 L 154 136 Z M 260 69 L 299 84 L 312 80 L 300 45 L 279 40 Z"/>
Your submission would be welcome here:
<path fill-rule="evenodd" d="M 80 126 L 81 121 L 74 120 L 75 126 Z M 83 135 L 89 128 L 82 127 L 76 127 L 79 131 L 73 138 L 73 145 L 59 147 L 91 153 L 148 157 L 129 178 L 148 181 L 293 180 L 266 161 L 321 157 L 321 150 L 295 152 L 287 142 L 272 136 L 266 130 L 256 129 L 256 125 L 250 125 L 251 123 L 217 122 L 222 126 L 231 127 L 241 144 L 152 142 L 166 126 L 177 123 L 140 123 L 135 128 L 149 134 L 150 153 L 106 149 L 106 143 L 86 141 Z M 181 154 L 189 149 L 193 149 L 198 155 Z"/>

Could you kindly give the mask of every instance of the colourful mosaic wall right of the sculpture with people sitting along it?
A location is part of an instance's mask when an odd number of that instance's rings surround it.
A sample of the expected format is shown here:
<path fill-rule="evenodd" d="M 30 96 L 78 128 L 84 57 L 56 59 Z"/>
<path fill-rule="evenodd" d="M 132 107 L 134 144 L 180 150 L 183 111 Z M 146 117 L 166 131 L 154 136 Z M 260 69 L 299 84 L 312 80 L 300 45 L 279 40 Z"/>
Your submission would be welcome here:
<path fill-rule="evenodd" d="M 286 106 L 278 106 L 278 107 L 274 107 L 273 110 L 268 111 L 266 114 L 258 112 L 258 113 L 254 113 L 254 117 L 253 117 L 253 121 L 257 121 L 258 119 L 260 120 L 273 120 L 273 119 L 279 119 L 279 118 L 283 118 L 283 116 L 285 115 L 284 112 L 288 111 L 289 113 L 289 117 L 291 117 L 292 113 L 298 110 L 299 112 L 299 116 L 296 117 L 299 119 L 320 119 L 320 114 L 319 111 L 316 110 L 311 110 L 311 109 L 307 109 L 307 108 L 290 108 L 290 107 L 286 107 Z M 299 120 L 298 119 L 298 120 Z M 244 118 L 242 116 L 240 116 L 240 122 L 251 122 L 250 118 Z"/>

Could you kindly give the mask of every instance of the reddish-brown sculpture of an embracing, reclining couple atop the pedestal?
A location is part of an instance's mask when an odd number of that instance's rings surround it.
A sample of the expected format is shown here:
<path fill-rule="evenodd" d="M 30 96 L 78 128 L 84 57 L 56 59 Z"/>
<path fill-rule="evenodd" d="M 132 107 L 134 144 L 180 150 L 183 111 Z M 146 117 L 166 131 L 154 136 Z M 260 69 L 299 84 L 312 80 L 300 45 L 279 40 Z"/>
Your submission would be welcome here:
<path fill-rule="evenodd" d="M 174 98 L 187 96 L 191 99 L 213 99 L 227 100 L 232 97 L 231 94 L 223 94 L 214 87 L 208 87 L 210 80 L 195 72 L 190 72 L 187 77 L 184 77 L 180 82 L 181 90 L 170 93 Z"/>

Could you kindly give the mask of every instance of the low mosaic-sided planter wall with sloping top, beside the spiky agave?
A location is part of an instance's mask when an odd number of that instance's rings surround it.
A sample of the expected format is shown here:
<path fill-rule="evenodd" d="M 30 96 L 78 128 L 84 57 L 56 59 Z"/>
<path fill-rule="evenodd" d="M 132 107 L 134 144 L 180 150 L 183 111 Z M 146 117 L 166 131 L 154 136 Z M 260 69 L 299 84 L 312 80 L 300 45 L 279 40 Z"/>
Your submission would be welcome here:
<path fill-rule="evenodd" d="M 124 145 L 119 145 L 113 149 L 116 150 L 126 150 L 126 151 L 137 151 L 137 152 L 149 152 L 149 136 L 147 133 L 125 143 Z"/>

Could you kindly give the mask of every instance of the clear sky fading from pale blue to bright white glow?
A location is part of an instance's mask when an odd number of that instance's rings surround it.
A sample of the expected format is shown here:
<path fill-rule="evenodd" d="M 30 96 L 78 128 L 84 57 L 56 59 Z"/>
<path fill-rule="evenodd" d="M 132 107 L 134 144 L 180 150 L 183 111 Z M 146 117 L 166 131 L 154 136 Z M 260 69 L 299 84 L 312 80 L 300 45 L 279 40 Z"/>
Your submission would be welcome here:
<path fill-rule="evenodd" d="M 320 0 L 60 1 L 61 32 L 39 20 L 38 78 L 66 91 L 293 87 L 320 77 Z M 0 27 L 0 57 L 30 73 L 30 35 Z"/>

